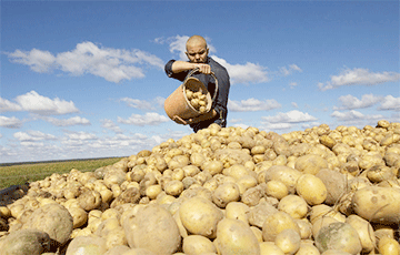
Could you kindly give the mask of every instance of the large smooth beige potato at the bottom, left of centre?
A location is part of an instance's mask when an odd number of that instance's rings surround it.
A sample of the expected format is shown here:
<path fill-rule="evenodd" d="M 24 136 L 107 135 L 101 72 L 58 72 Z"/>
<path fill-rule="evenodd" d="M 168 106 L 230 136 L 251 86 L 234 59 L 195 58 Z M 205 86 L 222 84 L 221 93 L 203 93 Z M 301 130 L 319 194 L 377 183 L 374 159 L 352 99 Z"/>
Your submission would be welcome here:
<path fill-rule="evenodd" d="M 130 247 L 172 254 L 181 244 L 179 228 L 172 215 L 157 204 L 139 208 L 122 226 Z"/>

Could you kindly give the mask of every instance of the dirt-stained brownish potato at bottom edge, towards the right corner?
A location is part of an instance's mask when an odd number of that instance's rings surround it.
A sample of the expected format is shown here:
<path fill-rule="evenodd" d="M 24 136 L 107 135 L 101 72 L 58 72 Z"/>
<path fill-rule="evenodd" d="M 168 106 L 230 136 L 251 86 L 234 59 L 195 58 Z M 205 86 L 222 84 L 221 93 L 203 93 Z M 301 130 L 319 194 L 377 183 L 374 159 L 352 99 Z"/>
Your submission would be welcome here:
<path fill-rule="evenodd" d="M 342 222 L 322 227 L 316 236 L 316 246 L 321 253 L 327 249 L 338 249 L 356 255 L 362 249 L 357 231 L 350 224 Z"/>

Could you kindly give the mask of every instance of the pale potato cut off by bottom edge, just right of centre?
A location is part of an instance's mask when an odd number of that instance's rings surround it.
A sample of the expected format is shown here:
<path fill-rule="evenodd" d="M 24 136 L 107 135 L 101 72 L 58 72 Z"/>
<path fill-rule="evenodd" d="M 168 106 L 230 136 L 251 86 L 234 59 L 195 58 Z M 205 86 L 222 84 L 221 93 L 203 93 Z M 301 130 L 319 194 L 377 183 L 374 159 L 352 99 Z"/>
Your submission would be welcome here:
<path fill-rule="evenodd" d="M 217 227 L 217 245 L 221 254 L 260 254 L 260 245 L 250 227 L 239 220 L 223 218 Z"/>

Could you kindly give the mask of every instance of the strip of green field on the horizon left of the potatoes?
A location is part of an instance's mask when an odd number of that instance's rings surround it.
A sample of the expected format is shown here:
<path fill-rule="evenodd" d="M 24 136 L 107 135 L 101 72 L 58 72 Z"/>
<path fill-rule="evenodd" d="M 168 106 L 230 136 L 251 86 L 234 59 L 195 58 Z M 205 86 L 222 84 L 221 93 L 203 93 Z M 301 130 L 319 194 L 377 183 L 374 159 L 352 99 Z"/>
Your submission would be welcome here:
<path fill-rule="evenodd" d="M 0 166 L 0 190 L 26 182 L 43 180 L 53 173 L 69 173 L 72 169 L 81 172 L 94 171 L 101 166 L 111 165 L 121 157 L 91 159 L 57 162 L 32 162 L 21 164 L 2 164 Z"/>

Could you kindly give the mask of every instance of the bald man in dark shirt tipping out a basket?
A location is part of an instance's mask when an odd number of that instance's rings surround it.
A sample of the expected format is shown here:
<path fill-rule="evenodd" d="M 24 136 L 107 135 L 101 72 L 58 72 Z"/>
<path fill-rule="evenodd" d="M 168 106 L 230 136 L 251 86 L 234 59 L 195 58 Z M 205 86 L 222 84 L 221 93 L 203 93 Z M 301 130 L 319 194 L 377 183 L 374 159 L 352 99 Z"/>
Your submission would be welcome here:
<path fill-rule="evenodd" d="M 199 79 L 207 86 L 212 98 L 216 90 L 216 81 L 209 74 L 213 72 L 218 81 L 218 92 L 210 112 L 198 118 L 184 120 L 181 124 L 190 124 L 194 132 L 206 129 L 212 123 L 217 123 L 222 128 L 227 126 L 227 104 L 230 89 L 227 70 L 208 57 L 209 49 L 204 38 L 200 35 L 189 38 L 186 49 L 189 61 L 170 60 L 166 64 L 167 75 L 183 82 L 191 70 L 199 69 L 199 72 L 196 72 L 192 76 Z"/>

